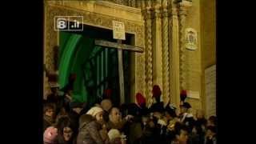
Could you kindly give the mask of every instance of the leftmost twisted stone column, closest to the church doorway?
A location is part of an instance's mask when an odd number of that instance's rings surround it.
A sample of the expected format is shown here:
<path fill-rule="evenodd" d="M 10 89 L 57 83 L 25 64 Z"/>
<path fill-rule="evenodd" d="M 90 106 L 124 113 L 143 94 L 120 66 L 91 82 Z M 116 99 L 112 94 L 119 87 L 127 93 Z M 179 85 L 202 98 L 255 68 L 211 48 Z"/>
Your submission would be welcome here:
<path fill-rule="evenodd" d="M 152 104 L 152 84 L 153 84 L 153 75 L 152 75 L 152 3 L 151 1 L 147 1 L 146 3 L 146 99 L 147 105 L 150 106 Z"/>

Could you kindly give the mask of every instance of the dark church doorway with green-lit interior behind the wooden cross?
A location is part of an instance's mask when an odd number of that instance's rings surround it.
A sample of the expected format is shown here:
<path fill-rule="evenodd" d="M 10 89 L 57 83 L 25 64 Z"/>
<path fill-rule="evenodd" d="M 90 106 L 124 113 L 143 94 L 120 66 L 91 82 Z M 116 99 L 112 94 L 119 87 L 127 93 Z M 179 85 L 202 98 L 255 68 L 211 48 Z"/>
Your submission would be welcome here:
<path fill-rule="evenodd" d="M 133 34 L 122 43 L 131 45 Z M 95 39 L 117 42 L 112 30 L 84 25 L 83 31 L 59 32 L 58 71 L 60 88 L 66 86 L 70 74 L 76 74 L 73 99 L 88 106 L 100 102 L 106 94 L 114 105 L 120 104 L 118 50 L 96 46 Z M 125 102 L 130 102 L 130 51 L 122 50 Z"/>

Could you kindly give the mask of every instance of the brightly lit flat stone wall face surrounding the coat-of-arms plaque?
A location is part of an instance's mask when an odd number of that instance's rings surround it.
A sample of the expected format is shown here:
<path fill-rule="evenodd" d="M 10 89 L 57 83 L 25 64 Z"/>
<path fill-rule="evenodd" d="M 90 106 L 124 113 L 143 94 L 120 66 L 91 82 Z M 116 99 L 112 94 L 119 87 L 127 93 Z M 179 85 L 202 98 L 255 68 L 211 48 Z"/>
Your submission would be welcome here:
<path fill-rule="evenodd" d="M 202 67 L 201 67 L 201 29 L 200 29 L 200 1 L 194 0 L 192 6 L 187 11 L 186 16 L 186 28 L 193 28 L 197 31 L 197 49 L 188 50 L 186 49 L 186 86 L 187 90 L 198 91 L 199 95 L 202 96 L 201 90 L 201 77 L 202 77 Z M 194 113 L 196 109 L 202 109 L 202 98 L 192 99 L 188 98 L 187 102 L 192 105 L 192 112 Z"/>

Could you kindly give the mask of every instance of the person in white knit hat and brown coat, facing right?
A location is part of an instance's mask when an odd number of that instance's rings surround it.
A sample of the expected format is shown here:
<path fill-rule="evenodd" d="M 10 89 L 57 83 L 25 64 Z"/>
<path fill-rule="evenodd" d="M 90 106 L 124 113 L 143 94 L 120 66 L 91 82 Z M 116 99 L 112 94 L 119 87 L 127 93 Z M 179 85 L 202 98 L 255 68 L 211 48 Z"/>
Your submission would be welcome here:
<path fill-rule="evenodd" d="M 86 114 L 82 114 L 79 118 L 77 144 L 109 143 L 107 132 L 102 130 L 102 114 L 102 108 L 97 106 L 92 107 Z"/>

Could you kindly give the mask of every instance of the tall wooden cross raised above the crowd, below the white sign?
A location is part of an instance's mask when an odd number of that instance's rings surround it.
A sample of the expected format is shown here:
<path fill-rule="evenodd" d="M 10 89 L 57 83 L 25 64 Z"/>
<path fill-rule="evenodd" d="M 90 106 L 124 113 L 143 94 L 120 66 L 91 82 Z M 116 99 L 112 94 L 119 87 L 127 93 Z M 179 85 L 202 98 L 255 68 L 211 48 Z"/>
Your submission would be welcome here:
<path fill-rule="evenodd" d="M 124 78 L 123 78 L 123 66 L 122 66 L 122 50 L 130 50 L 138 53 L 143 53 L 142 47 L 122 44 L 122 40 L 120 39 L 118 39 L 118 42 L 95 40 L 94 44 L 97 46 L 103 46 L 106 48 L 118 49 L 118 74 L 119 74 L 119 86 L 120 86 L 120 102 L 124 103 L 125 94 L 124 94 Z"/>

